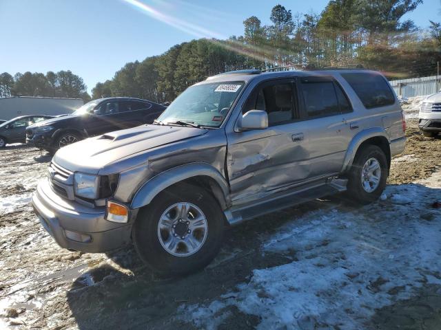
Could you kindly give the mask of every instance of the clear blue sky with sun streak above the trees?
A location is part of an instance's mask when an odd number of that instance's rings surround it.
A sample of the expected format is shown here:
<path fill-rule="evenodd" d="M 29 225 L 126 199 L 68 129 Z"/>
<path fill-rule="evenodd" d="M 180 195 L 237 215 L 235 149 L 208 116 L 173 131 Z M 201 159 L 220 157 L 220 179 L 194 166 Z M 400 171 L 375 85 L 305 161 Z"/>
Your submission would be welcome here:
<path fill-rule="evenodd" d="M 327 0 L 0 0 L 0 72 L 70 69 L 88 91 L 131 61 L 173 45 L 243 34 L 250 16 L 269 24 L 280 3 L 291 12 L 321 12 Z M 423 28 L 441 21 L 440 0 L 407 14 Z"/>

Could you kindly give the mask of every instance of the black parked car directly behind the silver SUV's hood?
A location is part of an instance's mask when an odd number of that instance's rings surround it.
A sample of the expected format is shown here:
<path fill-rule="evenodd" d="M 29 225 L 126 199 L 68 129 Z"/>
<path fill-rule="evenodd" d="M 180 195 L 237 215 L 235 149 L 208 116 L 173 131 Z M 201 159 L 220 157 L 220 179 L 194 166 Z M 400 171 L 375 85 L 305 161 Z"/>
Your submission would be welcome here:
<path fill-rule="evenodd" d="M 161 104 L 138 98 L 101 98 L 84 104 L 72 115 L 29 126 L 26 142 L 54 152 L 86 137 L 151 123 L 164 109 Z"/>

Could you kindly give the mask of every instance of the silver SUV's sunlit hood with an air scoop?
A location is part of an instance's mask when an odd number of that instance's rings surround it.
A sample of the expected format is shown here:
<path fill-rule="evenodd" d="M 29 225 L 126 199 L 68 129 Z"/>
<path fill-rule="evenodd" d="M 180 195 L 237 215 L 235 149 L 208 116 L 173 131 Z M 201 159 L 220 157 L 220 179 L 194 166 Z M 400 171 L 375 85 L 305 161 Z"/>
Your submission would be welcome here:
<path fill-rule="evenodd" d="M 96 174 L 118 159 L 207 133 L 183 126 L 143 125 L 105 133 L 59 149 L 53 162 L 72 172 Z"/>

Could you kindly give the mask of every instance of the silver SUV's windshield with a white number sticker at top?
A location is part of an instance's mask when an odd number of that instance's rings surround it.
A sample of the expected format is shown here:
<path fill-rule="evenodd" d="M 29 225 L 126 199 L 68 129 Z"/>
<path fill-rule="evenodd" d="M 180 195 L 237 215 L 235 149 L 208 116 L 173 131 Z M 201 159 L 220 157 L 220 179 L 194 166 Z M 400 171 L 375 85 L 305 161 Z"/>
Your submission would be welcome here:
<path fill-rule="evenodd" d="M 243 85 L 243 81 L 240 81 L 189 87 L 165 109 L 158 122 L 189 122 L 200 126 L 218 127 Z"/>

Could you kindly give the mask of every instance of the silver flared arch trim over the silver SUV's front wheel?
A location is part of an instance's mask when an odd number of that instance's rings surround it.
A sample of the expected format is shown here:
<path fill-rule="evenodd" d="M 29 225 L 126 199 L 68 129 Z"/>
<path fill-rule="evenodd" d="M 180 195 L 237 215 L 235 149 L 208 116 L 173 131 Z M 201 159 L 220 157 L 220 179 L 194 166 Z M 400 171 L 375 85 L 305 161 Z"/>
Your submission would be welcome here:
<path fill-rule="evenodd" d="M 165 170 L 152 179 L 149 179 L 139 190 L 135 193 L 130 208 L 141 208 L 148 205 L 159 192 L 163 191 L 178 182 L 192 177 L 206 176 L 214 179 L 218 184 L 220 190 L 223 192 L 223 197 L 227 200 L 229 196 L 229 188 L 225 178 L 219 173 L 216 168 L 207 163 L 190 163 Z"/>

